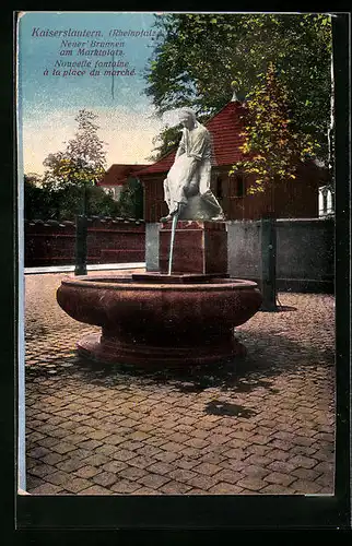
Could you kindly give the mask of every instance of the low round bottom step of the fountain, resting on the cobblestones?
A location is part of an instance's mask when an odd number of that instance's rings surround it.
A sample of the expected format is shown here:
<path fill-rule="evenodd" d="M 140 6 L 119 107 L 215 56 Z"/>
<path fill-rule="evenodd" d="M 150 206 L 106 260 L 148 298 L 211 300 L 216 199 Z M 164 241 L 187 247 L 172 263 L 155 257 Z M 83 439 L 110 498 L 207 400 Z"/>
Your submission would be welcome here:
<path fill-rule="evenodd" d="M 162 365 L 167 367 L 218 364 L 246 355 L 246 348 L 233 335 L 224 335 L 222 340 L 218 340 L 218 345 L 179 347 L 127 344 L 117 337 L 106 340 L 99 334 L 90 334 L 83 337 L 77 346 L 80 355 L 92 360 L 138 366 Z"/>

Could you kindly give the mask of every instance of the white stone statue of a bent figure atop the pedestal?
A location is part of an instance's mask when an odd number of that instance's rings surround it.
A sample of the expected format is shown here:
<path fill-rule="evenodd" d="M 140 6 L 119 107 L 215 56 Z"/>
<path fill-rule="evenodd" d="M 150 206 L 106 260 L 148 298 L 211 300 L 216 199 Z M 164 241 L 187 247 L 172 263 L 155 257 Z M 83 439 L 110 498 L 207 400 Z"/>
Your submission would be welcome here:
<path fill-rule="evenodd" d="M 210 190 L 211 179 L 211 135 L 199 123 L 190 108 L 181 108 L 179 122 L 184 126 L 183 136 L 175 161 L 164 180 L 164 199 L 168 215 L 161 222 L 183 216 L 188 198 L 199 194 L 201 207 L 213 221 L 225 219 L 222 207 Z"/>

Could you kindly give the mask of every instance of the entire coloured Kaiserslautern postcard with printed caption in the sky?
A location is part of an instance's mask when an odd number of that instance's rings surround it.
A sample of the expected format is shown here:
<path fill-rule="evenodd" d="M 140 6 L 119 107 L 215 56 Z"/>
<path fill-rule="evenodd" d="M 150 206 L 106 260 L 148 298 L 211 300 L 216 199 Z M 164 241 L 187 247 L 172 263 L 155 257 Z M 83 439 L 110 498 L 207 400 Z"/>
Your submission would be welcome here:
<path fill-rule="evenodd" d="M 17 14 L 21 495 L 333 496 L 331 25 Z"/>

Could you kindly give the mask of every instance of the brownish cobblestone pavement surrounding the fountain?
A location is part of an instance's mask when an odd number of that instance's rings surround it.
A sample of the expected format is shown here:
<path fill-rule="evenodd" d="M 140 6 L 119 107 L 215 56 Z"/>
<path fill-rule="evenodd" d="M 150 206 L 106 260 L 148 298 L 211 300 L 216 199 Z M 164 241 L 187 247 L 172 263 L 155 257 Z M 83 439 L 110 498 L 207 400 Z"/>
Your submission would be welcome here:
<path fill-rule="evenodd" d="M 280 294 L 245 358 L 142 370 L 77 356 L 98 329 L 59 308 L 63 276 L 25 276 L 28 492 L 333 492 L 332 296 Z"/>

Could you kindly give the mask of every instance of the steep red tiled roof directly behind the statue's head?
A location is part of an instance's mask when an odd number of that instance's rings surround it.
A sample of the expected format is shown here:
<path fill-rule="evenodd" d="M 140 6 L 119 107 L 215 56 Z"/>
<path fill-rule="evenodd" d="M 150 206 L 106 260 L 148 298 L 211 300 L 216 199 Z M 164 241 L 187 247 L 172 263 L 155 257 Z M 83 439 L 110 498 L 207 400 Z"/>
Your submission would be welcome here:
<path fill-rule="evenodd" d="M 239 103 L 231 102 L 215 114 L 204 126 L 210 131 L 213 143 L 213 165 L 232 165 L 243 159 L 239 146 L 244 138 L 239 136 L 243 131 L 240 116 L 245 112 L 245 107 Z M 136 173 L 137 176 L 166 173 L 174 163 L 176 150 L 168 152 L 161 159 Z"/>

